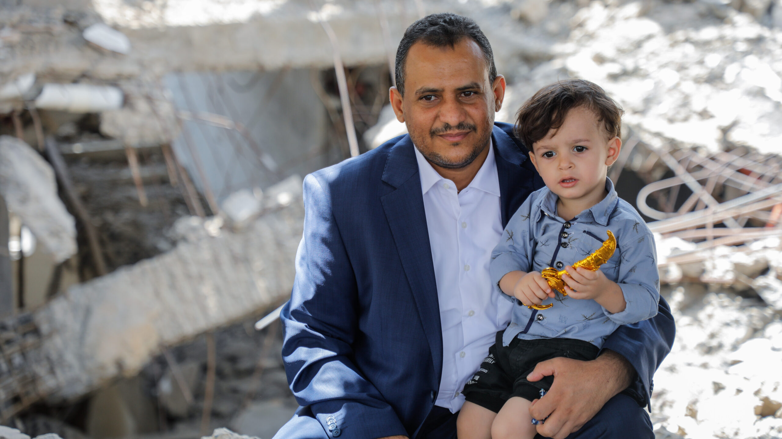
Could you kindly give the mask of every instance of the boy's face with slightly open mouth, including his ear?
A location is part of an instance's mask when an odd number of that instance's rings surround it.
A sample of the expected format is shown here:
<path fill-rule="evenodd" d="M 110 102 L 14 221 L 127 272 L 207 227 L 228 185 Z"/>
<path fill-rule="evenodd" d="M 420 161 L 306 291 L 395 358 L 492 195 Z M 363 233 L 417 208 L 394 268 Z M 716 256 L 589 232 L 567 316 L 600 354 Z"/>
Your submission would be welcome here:
<path fill-rule="evenodd" d="M 559 198 L 597 204 L 604 197 L 608 166 L 619 157 L 622 147 L 619 137 L 607 137 L 597 115 L 577 107 L 570 109 L 559 130 L 551 129 L 535 142 L 529 158 Z"/>

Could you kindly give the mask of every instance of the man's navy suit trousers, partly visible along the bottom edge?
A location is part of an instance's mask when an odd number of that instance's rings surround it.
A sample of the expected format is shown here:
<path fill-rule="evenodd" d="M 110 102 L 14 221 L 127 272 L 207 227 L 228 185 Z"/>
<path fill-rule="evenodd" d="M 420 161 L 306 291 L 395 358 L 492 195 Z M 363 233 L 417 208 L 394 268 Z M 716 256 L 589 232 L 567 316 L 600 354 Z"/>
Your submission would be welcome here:
<path fill-rule="evenodd" d="M 425 420 L 421 432 L 415 439 L 457 439 L 456 417 L 447 409 L 435 406 Z M 371 419 L 367 419 L 371 423 Z M 540 435 L 536 438 L 542 437 Z M 597 415 L 568 436 L 568 439 L 654 439 L 651 420 L 646 410 L 624 394 L 608 400 Z M 332 439 L 321 423 L 312 416 L 307 407 L 296 410 L 293 418 L 274 435 L 274 439 Z M 376 438 L 367 438 L 376 439 Z"/>

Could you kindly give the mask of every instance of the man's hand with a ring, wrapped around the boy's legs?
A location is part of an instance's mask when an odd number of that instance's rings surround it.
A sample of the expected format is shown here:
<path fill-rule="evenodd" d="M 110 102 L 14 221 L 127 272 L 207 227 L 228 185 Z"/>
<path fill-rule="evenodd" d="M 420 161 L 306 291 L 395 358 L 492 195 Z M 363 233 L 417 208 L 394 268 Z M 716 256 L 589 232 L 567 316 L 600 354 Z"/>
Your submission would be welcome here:
<path fill-rule="evenodd" d="M 543 398 L 532 402 L 529 414 L 534 419 L 548 417 L 537 426 L 539 434 L 564 439 L 630 386 L 635 370 L 622 355 L 606 350 L 592 361 L 556 358 L 539 362 L 527 380 L 549 375 L 554 375 L 554 384 Z"/>

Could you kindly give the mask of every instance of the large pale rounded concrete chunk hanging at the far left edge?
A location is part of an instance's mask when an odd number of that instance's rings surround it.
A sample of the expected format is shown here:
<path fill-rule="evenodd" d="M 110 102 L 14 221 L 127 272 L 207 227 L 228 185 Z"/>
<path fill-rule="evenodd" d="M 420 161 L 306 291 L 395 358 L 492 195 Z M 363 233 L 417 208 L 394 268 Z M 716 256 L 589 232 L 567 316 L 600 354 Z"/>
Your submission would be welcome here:
<path fill-rule="evenodd" d="M 0 136 L 0 192 L 56 262 L 76 253 L 76 222 L 57 195 L 52 167 L 16 137 Z"/>

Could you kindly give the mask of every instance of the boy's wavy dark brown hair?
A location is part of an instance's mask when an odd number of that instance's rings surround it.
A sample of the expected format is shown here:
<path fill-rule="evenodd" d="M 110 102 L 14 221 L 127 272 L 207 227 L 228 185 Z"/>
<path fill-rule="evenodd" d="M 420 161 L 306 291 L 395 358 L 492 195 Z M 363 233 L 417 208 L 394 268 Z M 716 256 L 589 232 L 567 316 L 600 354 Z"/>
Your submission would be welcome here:
<path fill-rule="evenodd" d="M 622 107 L 599 85 L 580 79 L 549 84 L 527 99 L 516 116 L 516 137 L 532 151 L 536 141 L 546 137 L 552 128 L 558 130 L 570 109 L 578 107 L 594 112 L 597 122 L 603 123 L 608 139 L 622 137 Z"/>

